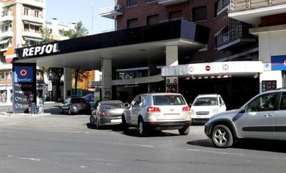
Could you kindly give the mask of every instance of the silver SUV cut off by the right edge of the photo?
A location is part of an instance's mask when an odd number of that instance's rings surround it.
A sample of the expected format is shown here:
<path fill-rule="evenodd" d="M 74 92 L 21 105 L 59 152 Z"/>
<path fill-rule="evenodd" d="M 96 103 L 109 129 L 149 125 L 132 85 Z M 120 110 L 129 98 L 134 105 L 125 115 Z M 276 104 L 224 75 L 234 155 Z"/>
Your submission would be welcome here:
<path fill-rule="evenodd" d="M 241 138 L 286 140 L 286 90 L 263 92 L 240 109 L 216 114 L 204 132 L 216 147 L 231 147 Z"/>

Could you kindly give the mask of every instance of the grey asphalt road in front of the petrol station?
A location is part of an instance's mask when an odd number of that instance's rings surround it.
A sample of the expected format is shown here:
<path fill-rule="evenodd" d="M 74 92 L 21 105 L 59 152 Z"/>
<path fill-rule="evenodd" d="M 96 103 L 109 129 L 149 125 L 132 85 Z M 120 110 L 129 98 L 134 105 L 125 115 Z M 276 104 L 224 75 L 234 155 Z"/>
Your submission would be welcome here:
<path fill-rule="evenodd" d="M 285 172 L 285 143 L 213 147 L 204 127 L 141 138 L 120 127 L 95 130 L 88 115 L 0 116 L 0 172 Z"/>

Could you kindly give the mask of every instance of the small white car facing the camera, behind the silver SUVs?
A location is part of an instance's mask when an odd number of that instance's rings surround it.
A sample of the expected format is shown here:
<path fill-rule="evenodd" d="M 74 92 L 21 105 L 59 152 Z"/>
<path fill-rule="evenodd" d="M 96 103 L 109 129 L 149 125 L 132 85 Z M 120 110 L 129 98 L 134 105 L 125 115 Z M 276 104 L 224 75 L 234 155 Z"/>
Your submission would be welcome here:
<path fill-rule="evenodd" d="M 207 123 L 211 116 L 226 110 L 225 101 L 219 94 L 200 94 L 191 105 L 191 120 L 193 123 Z"/>

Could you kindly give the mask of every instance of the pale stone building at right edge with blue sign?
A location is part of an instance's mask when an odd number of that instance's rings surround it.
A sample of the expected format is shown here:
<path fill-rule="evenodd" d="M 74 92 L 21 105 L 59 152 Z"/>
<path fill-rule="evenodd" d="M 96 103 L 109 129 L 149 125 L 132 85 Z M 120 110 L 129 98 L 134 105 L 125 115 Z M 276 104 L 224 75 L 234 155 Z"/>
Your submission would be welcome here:
<path fill-rule="evenodd" d="M 258 37 L 259 61 L 265 63 L 260 74 L 260 92 L 286 87 L 286 1 L 233 0 L 229 17 L 254 26 L 249 33 Z"/>

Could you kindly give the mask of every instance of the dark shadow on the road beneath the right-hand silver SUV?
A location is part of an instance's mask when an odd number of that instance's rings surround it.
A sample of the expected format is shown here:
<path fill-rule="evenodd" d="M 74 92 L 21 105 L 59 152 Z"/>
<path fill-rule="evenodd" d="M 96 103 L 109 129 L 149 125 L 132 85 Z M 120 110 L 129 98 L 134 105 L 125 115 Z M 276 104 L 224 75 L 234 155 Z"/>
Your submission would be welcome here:
<path fill-rule="evenodd" d="M 201 139 L 187 142 L 189 145 L 198 145 L 202 147 L 215 147 L 211 139 Z M 257 150 L 264 152 L 286 153 L 286 141 L 272 141 L 260 139 L 240 139 L 236 141 L 232 148 L 244 150 Z"/>

